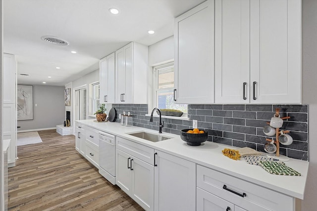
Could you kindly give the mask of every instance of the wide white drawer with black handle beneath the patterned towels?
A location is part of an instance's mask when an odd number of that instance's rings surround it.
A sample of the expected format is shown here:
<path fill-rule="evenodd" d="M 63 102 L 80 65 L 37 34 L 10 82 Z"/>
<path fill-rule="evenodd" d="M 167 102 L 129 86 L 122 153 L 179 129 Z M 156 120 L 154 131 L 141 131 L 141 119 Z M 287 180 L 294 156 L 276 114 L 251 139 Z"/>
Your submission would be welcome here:
<path fill-rule="evenodd" d="M 249 211 L 292 211 L 294 206 L 292 197 L 199 165 L 197 187 Z"/>

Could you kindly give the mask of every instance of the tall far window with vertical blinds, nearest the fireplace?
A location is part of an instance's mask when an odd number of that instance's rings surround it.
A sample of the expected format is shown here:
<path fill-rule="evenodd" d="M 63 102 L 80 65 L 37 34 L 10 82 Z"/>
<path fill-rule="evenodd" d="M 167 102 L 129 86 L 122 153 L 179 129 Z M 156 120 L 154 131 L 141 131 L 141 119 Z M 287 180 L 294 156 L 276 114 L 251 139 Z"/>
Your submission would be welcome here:
<path fill-rule="evenodd" d="M 86 87 L 75 90 L 75 120 L 86 120 L 87 94 Z"/>

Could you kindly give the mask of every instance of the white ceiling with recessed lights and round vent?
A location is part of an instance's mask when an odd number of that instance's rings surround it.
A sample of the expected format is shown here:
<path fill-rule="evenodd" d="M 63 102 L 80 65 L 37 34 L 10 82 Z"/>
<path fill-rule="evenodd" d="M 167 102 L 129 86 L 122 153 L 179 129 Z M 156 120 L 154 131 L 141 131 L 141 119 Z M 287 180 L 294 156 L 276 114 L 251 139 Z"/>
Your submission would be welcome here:
<path fill-rule="evenodd" d="M 19 84 L 64 85 L 99 69 L 101 58 L 128 42 L 151 45 L 172 36 L 174 18 L 203 1 L 3 0 L 3 52 L 16 55 Z M 111 7 L 119 14 L 111 14 Z"/>

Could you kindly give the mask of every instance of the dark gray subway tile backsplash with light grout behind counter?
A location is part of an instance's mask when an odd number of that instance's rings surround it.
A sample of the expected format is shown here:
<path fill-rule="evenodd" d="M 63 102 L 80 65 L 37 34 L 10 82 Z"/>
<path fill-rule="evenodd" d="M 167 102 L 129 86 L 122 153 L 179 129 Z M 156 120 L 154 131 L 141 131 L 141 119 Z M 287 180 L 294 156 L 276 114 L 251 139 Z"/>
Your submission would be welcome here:
<path fill-rule="evenodd" d="M 159 130 L 159 118 L 150 122 L 147 104 L 112 104 L 116 109 L 116 122 L 120 122 L 119 114 L 123 111 L 133 115 L 134 125 Z M 284 121 L 281 129 L 290 130 L 294 141 L 289 146 L 280 144 L 280 154 L 290 158 L 308 160 L 308 105 L 188 105 L 187 120 L 162 118 L 163 132 L 180 134 L 181 129 L 191 128 L 193 120 L 198 127 L 208 131 L 208 140 L 236 147 L 251 147 L 264 152 L 267 137 L 262 129 L 273 117 L 275 108 L 280 108 L 280 116 L 291 117 Z"/>

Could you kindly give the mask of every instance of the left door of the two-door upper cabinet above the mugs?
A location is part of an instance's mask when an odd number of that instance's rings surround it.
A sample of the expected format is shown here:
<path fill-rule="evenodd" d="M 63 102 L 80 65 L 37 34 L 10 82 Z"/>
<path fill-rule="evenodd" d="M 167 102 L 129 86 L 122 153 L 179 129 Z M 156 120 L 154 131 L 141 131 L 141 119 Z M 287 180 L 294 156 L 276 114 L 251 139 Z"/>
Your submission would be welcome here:
<path fill-rule="evenodd" d="M 215 103 L 250 102 L 250 0 L 215 0 Z"/>

